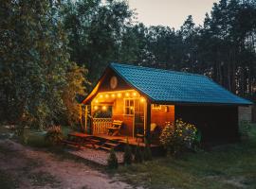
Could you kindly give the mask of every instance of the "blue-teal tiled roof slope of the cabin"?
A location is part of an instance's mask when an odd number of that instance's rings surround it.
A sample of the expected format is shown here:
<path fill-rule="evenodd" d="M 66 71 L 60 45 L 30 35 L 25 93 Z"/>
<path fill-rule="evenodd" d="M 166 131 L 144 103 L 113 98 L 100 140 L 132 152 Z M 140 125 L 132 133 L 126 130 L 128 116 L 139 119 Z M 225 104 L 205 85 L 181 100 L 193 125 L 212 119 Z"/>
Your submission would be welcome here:
<path fill-rule="evenodd" d="M 206 76 L 119 63 L 111 63 L 110 68 L 155 102 L 252 104 Z"/>

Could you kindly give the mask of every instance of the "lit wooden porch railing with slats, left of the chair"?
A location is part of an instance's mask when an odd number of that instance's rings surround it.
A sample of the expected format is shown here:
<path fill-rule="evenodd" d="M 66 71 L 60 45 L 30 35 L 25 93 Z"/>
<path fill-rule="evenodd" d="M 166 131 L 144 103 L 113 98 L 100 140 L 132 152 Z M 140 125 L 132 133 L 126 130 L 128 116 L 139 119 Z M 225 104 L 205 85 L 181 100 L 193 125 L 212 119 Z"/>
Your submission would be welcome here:
<path fill-rule="evenodd" d="M 111 125 L 111 118 L 93 118 L 93 134 L 106 134 Z"/>

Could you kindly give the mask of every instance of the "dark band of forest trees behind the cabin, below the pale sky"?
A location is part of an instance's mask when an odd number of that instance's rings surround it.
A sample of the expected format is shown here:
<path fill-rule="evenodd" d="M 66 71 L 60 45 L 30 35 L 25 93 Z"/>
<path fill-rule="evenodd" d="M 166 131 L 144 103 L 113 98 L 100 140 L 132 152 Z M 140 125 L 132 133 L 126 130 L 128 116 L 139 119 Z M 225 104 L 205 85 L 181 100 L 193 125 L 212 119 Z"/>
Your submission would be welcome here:
<path fill-rule="evenodd" d="M 256 4 L 221 0 L 203 26 L 189 15 L 180 28 L 144 26 L 126 1 L 67 1 L 64 28 L 71 60 L 95 83 L 110 61 L 206 75 L 242 96 L 255 95 Z"/>

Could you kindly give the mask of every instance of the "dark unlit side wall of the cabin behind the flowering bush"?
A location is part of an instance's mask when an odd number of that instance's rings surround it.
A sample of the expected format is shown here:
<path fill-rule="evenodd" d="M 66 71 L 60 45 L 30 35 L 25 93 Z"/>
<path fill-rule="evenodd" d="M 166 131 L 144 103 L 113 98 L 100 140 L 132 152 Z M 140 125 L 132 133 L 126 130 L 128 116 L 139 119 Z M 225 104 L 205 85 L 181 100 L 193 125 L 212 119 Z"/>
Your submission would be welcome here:
<path fill-rule="evenodd" d="M 238 108 L 233 106 L 175 106 L 175 119 L 182 118 L 202 132 L 204 143 L 238 140 Z"/>

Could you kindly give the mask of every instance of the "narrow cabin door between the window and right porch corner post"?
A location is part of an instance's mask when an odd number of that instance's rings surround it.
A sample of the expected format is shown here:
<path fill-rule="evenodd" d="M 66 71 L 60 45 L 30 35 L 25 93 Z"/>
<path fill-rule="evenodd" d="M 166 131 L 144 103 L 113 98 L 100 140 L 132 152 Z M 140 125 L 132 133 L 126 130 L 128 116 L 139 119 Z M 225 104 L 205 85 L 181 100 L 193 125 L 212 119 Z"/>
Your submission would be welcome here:
<path fill-rule="evenodd" d="M 144 103 L 139 99 L 135 99 L 135 116 L 134 116 L 134 137 L 144 134 Z"/>

